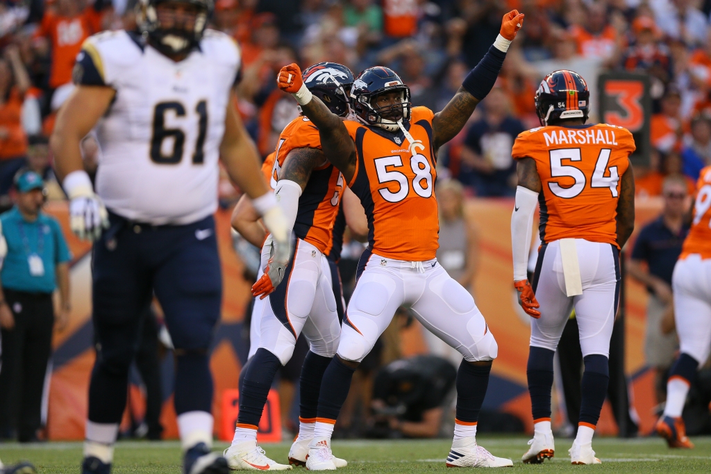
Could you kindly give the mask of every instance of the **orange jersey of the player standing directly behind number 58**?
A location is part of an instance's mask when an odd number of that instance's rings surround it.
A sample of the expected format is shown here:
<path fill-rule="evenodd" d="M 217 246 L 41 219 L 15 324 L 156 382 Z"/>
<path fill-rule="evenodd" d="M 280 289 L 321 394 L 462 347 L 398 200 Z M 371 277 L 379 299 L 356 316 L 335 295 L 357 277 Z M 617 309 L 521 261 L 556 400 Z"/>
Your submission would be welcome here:
<path fill-rule="evenodd" d="M 269 172 L 272 188 L 277 187 L 287 155 L 296 148 L 321 148 L 319 129 L 306 117 L 296 117 L 279 135 Z M 325 160 L 324 157 L 324 164 L 311 171 L 301 192 L 294 233 L 328 255 L 333 246 L 333 223 L 338 215 L 338 204 L 346 187 L 343 174 Z"/>

